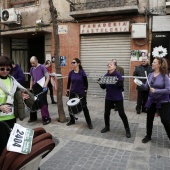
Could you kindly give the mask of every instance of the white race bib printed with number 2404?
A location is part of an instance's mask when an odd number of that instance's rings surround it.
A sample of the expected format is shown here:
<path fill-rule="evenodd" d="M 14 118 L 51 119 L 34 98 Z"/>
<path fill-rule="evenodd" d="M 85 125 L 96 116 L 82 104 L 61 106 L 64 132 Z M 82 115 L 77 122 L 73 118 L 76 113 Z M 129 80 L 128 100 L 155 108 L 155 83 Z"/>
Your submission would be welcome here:
<path fill-rule="evenodd" d="M 7 150 L 29 154 L 32 148 L 34 131 L 15 123 L 7 143 Z"/>

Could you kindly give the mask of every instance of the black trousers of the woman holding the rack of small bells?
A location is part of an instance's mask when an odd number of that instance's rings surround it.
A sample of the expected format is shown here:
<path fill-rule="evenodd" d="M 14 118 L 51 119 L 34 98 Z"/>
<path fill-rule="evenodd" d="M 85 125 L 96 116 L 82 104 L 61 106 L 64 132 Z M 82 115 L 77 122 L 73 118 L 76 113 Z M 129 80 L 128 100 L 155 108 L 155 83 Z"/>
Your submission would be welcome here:
<path fill-rule="evenodd" d="M 110 111 L 114 104 L 117 107 L 119 116 L 123 121 L 125 129 L 129 128 L 128 119 L 124 111 L 123 100 L 120 101 L 111 101 L 107 99 L 105 100 L 105 112 L 104 112 L 105 126 L 110 127 Z"/>

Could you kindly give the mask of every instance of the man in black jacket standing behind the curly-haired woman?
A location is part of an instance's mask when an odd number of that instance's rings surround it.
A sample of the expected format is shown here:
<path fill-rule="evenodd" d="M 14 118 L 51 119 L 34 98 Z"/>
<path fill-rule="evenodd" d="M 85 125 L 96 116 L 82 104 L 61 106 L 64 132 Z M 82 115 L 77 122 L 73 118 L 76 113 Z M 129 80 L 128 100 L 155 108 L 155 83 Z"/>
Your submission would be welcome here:
<path fill-rule="evenodd" d="M 133 76 L 146 77 L 145 71 L 147 75 L 152 72 L 152 67 L 148 64 L 147 57 L 142 57 L 141 64 L 135 67 L 133 72 Z M 143 83 L 146 82 L 146 79 L 140 79 Z M 143 90 L 140 86 L 136 87 L 137 89 L 137 105 L 136 105 L 136 113 L 140 114 L 141 111 L 146 113 L 145 104 L 148 99 L 149 90 Z"/>

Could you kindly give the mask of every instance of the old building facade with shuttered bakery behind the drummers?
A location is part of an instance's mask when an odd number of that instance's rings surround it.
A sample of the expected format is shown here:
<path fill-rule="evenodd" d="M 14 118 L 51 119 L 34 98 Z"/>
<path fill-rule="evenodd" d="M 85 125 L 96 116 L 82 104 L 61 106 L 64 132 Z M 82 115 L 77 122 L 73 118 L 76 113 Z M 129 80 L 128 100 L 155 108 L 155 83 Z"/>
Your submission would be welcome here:
<path fill-rule="evenodd" d="M 53 3 L 58 11 L 62 75 L 68 75 L 73 58 L 80 58 L 88 74 L 88 94 L 95 96 L 104 96 L 96 80 L 106 73 L 108 61 L 117 59 L 125 76 L 133 74 L 142 52 L 152 62 L 152 44 L 157 42 L 154 36 L 162 31 L 155 24 L 162 21 L 158 17 L 168 18 L 169 4 L 165 0 L 58 0 Z M 29 58 L 33 55 L 40 63 L 46 59 L 53 61 L 54 39 L 48 1 L 8 0 L 1 6 L 17 9 L 22 18 L 20 24 L 4 23 L 1 19 L 1 53 L 11 56 L 25 72 L 29 71 Z M 63 81 L 64 93 L 67 79 Z M 135 100 L 133 79 L 125 78 L 124 86 L 125 99 Z"/>

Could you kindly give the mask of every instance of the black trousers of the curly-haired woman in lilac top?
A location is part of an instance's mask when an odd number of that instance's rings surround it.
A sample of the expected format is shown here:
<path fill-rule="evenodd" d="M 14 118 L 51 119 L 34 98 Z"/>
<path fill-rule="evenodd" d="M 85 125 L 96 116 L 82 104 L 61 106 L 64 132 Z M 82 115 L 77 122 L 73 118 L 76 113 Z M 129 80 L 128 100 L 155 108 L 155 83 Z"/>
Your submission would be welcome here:
<path fill-rule="evenodd" d="M 147 111 L 147 136 L 152 136 L 152 129 L 153 129 L 153 121 L 156 113 L 156 104 L 153 103 Z M 161 122 L 164 125 L 165 131 L 170 139 L 170 103 L 162 103 L 161 108 L 159 109 L 159 114 L 161 118 Z"/>

